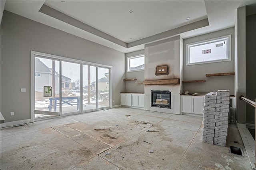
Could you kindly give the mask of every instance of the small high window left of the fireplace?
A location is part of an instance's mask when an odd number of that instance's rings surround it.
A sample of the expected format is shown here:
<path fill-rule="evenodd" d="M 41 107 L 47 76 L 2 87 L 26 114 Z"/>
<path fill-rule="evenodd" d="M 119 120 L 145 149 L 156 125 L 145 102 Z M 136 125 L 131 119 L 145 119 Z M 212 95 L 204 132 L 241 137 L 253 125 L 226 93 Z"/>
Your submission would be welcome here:
<path fill-rule="evenodd" d="M 145 55 L 127 57 L 127 71 L 140 71 L 145 67 Z"/>

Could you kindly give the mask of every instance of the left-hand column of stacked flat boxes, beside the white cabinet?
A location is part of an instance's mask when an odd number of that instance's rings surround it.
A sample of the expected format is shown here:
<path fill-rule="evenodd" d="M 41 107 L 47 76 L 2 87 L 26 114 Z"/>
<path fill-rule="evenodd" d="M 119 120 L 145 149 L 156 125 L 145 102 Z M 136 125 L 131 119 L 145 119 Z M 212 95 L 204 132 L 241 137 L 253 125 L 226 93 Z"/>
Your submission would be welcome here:
<path fill-rule="evenodd" d="M 204 96 L 203 142 L 214 144 L 216 95 L 210 92 Z"/>

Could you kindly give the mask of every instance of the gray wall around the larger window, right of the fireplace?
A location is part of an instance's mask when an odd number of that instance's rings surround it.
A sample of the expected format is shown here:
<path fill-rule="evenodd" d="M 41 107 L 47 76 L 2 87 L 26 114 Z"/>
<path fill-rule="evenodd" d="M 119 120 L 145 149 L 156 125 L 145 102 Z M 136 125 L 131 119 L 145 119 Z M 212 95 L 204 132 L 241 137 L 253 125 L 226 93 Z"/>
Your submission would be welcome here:
<path fill-rule="evenodd" d="M 197 65 L 186 65 L 186 44 L 208 40 L 221 36 L 231 35 L 231 61 L 206 63 Z M 234 28 L 220 30 L 201 36 L 196 36 L 184 40 L 184 61 L 183 61 L 183 80 L 206 80 L 204 83 L 183 83 L 183 91 L 189 93 L 211 92 L 219 89 L 230 90 L 234 95 L 234 75 L 206 77 L 211 73 L 234 72 Z"/>

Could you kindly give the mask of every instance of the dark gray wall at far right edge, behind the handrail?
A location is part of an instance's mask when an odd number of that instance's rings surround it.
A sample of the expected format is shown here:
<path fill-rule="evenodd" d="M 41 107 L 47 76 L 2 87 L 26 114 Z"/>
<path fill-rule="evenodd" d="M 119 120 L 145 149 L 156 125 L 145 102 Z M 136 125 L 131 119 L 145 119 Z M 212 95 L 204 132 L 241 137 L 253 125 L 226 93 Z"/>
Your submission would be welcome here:
<path fill-rule="evenodd" d="M 247 8 L 246 8 L 247 13 Z M 256 99 L 256 14 L 246 17 L 246 98 Z M 246 124 L 255 123 L 255 109 L 246 104 Z"/>

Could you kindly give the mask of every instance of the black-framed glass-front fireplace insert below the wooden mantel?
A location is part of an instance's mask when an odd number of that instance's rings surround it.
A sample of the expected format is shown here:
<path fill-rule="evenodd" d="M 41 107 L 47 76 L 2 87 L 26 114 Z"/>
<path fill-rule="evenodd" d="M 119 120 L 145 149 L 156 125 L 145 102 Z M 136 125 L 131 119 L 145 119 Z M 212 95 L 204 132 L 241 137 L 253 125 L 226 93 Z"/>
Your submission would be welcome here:
<path fill-rule="evenodd" d="M 151 107 L 163 107 L 171 109 L 171 92 L 167 90 L 152 90 Z"/>

